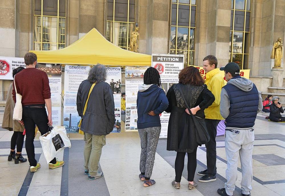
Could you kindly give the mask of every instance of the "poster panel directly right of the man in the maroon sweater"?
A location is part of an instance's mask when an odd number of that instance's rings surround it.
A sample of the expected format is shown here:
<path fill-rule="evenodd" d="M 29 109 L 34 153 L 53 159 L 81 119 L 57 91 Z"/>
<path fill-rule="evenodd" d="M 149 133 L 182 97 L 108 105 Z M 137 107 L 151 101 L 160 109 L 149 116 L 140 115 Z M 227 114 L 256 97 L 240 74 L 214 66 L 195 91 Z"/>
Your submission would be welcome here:
<path fill-rule="evenodd" d="M 50 85 L 52 101 L 52 124 L 53 126 L 61 125 L 61 64 L 52 64 L 46 67 L 46 64 L 38 64 L 38 70 L 46 72 Z"/>

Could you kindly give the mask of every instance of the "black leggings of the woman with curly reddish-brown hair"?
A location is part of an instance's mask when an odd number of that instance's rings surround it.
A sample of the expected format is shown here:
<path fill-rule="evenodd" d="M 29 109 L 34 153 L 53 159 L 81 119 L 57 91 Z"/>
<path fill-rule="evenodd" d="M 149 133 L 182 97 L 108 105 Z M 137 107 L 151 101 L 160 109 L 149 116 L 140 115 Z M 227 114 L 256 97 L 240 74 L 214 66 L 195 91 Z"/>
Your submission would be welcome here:
<path fill-rule="evenodd" d="M 175 181 L 180 182 L 182 172 L 184 169 L 184 158 L 186 152 L 177 152 L 176 159 L 175 159 Z M 194 152 L 187 153 L 188 155 L 188 163 L 187 163 L 187 170 L 188 170 L 188 181 L 194 180 L 194 175 L 196 172 L 197 160 L 196 160 L 197 148 L 194 149 Z"/>

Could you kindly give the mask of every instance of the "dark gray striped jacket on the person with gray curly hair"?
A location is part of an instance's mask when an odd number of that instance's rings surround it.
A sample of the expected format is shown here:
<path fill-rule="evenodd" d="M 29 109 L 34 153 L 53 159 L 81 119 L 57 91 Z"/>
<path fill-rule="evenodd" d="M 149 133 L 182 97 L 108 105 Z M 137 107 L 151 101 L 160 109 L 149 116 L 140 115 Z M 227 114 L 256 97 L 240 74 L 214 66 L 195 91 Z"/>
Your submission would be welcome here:
<path fill-rule="evenodd" d="M 76 105 L 78 115 L 81 117 L 91 85 L 88 80 L 84 80 L 78 88 Z M 93 135 L 107 135 L 113 130 L 115 121 L 111 86 L 106 82 L 99 82 L 90 94 L 80 129 Z"/>

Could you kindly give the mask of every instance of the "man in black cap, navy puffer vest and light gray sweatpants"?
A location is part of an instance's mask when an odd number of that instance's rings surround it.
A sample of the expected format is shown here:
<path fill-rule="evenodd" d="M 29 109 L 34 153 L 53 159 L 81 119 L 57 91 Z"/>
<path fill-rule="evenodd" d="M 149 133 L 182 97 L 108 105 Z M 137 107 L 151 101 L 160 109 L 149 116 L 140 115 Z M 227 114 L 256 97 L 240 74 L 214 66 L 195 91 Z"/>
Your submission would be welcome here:
<path fill-rule="evenodd" d="M 239 75 L 239 66 L 228 63 L 220 70 L 225 71 L 227 85 L 221 91 L 220 111 L 225 119 L 225 150 L 227 170 L 225 188 L 218 189 L 219 195 L 231 196 L 237 180 L 239 156 L 241 160 L 243 196 L 249 196 L 252 190 L 252 152 L 254 142 L 253 126 L 257 113 L 262 110 L 261 93 L 255 84 Z M 231 109 L 230 109 L 231 108 Z"/>

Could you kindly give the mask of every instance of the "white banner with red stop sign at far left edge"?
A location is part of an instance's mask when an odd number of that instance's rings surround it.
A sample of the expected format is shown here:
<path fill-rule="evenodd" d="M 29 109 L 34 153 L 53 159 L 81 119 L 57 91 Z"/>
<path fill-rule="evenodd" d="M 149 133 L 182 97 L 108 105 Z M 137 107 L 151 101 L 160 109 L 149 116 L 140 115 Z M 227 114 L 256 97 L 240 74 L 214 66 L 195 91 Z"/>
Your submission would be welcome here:
<path fill-rule="evenodd" d="M 24 58 L 0 56 L 0 79 L 13 80 L 13 70 L 17 67 L 26 68 Z"/>

